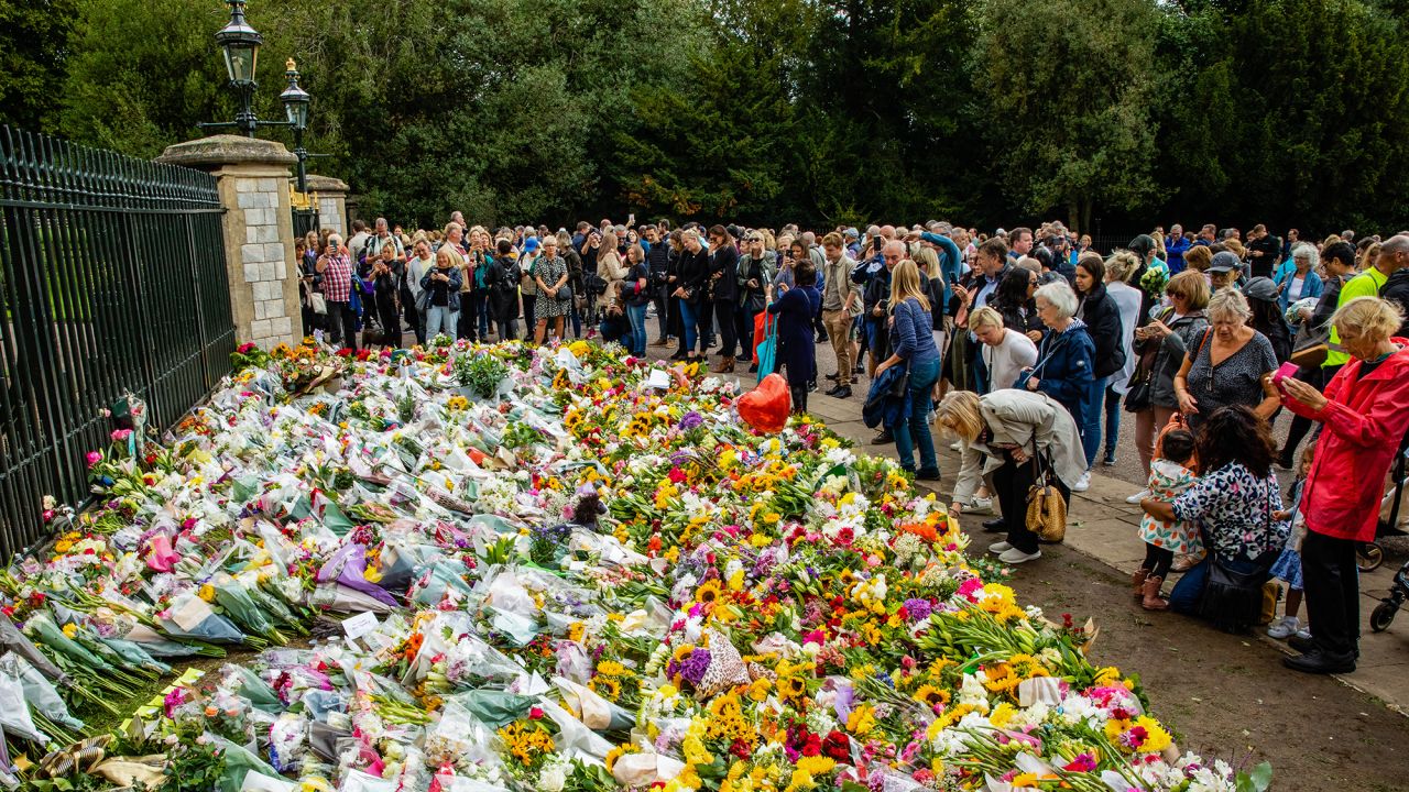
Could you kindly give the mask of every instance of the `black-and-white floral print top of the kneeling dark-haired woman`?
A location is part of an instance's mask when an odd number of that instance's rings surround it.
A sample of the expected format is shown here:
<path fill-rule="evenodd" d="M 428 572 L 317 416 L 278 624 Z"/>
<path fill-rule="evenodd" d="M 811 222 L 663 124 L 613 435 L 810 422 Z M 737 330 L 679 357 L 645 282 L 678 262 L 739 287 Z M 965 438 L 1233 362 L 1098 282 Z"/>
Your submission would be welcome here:
<path fill-rule="evenodd" d="M 1274 520 L 1282 509 L 1282 493 L 1271 472 L 1258 478 L 1237 462 L 1199 476 L 1174 499 L 1174 516 L 1203 527 L 1209 550 L 1222 561 L 1253 559 L 1267 551 L 1281 551 L 1289 526 Z"/>

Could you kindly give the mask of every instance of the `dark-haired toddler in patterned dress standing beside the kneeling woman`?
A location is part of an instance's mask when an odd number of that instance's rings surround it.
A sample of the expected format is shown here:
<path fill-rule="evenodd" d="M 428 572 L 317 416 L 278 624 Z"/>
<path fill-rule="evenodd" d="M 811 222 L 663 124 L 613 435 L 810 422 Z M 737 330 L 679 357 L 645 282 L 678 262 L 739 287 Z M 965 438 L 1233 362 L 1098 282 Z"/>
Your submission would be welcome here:
<path fill-rule="evenodd" d="M 1150 499 L 1172 503 L 1193 486 L 1193 434 L 1184 428 L 1165 433 L 1158 455 L 1150 462 Z M 1160 598 L 1160 586 L 1169 574 L 1175 554 L 1200 550 L 1199 531 L 1186 521 L 1157 520 L 1146 514 L 1140 520 L 1140 540 L 1146 543 L 1146 559 L 1130 581 L 1136 599 L 1146 610 L 1164 610 L 1169 603 Z"/>

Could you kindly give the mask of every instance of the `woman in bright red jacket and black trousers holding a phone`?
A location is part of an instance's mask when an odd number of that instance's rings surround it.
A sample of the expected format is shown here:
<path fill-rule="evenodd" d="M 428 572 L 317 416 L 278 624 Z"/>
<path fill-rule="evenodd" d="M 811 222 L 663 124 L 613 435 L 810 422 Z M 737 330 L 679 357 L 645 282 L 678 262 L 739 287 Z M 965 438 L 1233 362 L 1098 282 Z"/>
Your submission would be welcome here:
<path fill-rule="evenodd" d="M 1306 478 L 1302 513 L 1302 578 L 1310 641 L 1292 647 L 1288 668 L 1348 674 L 1360 654 L 1360 578 L 1355 547 L 1375 538 L 1385 474 L 1409 428 L 1409 340 L 1394 338 L 1402 316 L 1378 297 L 1350 300 L 1332 317 L 1350 362 L 1317 393 L 1305 382 L 1279 382 L 1282 404 L 1322 423 L 1316 461 Z"/>

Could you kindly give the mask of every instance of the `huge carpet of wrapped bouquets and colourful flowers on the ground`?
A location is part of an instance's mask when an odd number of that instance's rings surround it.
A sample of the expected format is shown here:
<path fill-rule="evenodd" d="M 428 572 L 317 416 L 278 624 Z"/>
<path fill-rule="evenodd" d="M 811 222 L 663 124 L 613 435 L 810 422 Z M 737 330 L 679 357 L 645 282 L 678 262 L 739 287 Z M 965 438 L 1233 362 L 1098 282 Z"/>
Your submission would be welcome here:
<path fill-rule="evenodd" d="M 806 417 L 755 433 L 735 388 L 693 368 L 447 338 L 244 358 L 161 443 L 94 451 L 101 505 L 54 509 L 56 541 L 0 579 L 18 627 L 0 692 L 27 703 L 6 734 L 77 757 L 7 758 L 11 774 L 230 791 L 1267 786 L 1265 767 L 1181 751 L 1136 679 L 1086 660 L 1093 630 L 1019 603 L 893 462 Z M 187 672 L 116 737 L 61 748 L 87 737 L 70 706 L 227 651 L 240 661 Z"/>

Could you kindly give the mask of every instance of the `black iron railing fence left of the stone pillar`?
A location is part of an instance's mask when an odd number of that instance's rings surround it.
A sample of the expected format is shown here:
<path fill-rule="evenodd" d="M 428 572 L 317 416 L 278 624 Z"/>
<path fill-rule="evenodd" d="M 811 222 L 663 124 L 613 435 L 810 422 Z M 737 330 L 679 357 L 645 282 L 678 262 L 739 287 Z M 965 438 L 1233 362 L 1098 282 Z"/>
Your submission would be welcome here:
<path fill-rule="evenodd" d="M 116 399 L 162 427 L 228 373 L 223 211 L 209 173 L 0 127 L 0 561 L 85 499 Z"/>

